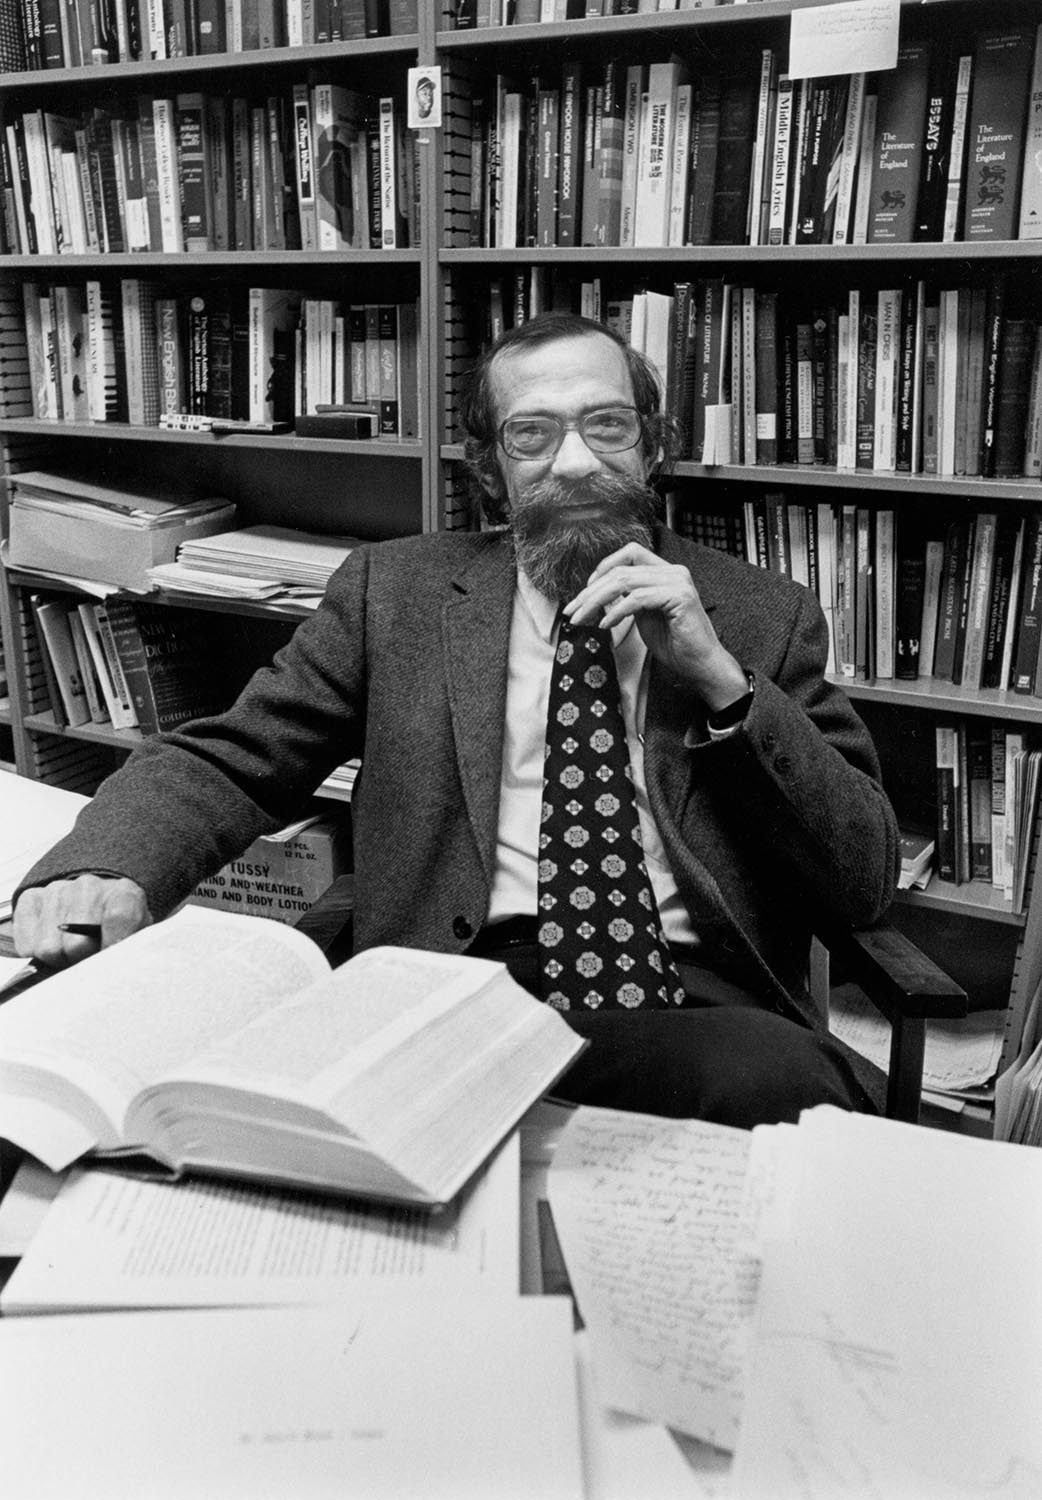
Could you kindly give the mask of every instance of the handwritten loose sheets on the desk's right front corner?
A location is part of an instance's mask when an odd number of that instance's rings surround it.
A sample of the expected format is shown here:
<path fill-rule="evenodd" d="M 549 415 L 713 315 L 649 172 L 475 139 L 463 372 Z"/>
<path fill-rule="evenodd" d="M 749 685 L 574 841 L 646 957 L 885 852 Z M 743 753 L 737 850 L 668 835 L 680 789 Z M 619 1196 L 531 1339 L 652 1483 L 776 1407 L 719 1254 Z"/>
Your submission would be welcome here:
<path fill-rule="evenodd" d="M 1041 1152 L 579 1108 L 549 1197 L 597 1398 L 700 1438 L 693 1494 L 1042 1494 Z"/>

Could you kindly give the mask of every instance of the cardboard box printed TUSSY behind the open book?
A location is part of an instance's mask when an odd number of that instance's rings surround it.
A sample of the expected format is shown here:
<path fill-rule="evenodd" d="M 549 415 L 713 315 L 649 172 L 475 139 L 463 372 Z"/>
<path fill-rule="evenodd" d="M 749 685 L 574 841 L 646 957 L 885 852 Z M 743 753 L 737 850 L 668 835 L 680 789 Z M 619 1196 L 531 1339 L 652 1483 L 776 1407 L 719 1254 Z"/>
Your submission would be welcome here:
<path fill-rule="evenodd" d="M 322 818 L 291 838 L 258 838 L 241 858 L 196 886 L 190 903 L 297 922 L 349 868 L 348 825 L 342 819 Z"/>

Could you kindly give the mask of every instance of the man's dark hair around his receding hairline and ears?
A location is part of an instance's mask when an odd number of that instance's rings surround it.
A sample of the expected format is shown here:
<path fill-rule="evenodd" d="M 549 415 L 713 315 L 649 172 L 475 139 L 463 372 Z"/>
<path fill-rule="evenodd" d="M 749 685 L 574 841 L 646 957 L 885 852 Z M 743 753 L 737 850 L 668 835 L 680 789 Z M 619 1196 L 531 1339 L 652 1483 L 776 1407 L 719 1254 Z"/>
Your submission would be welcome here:
<path fill-rule="evenodd" d="M 642 448 L 645 458 L 655 460 L 660 470 L 667 470 L 676 458 L 678 429 L 676 423 L 661 411 L 663 392 L 655 366 L 634 350 L 633 345 L 603 322 L 583 318 L 577 312 L 541 312 L 535 318 L 516 324 L 496 339 L 496 342 L 481 354 L 466 375 L 466 384 L 460 400 L 460 423 L 463 426 L 463 458 L 469 470 L 471 480 L 480 492 L 481 506 L 490 522 L 499 522 L 505 516 L 504 501 L 487 494 L 484 476 L 496 470 L 498 423 L 496 408 L 492 399 L 492 364 L 501 354 L 511 351 L 523 352 L 538 348 L 543 344 L 553 344 L 558 339 L 600 336 L 616 344 L 625 357 L 633 382 L 633 400 L 642 422 Z"/>

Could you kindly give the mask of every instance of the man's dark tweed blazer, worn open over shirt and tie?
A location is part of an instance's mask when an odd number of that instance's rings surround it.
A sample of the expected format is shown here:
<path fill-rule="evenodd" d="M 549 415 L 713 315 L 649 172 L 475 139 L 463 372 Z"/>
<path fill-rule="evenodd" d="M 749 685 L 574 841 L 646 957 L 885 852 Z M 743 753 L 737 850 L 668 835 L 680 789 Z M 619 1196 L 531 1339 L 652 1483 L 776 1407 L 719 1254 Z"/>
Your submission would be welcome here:
<path fill-rule="evenodd" d="M 756 692 L 741 729 L 714 741 L 699 700 L 652 663 L 651 808 L 706 964 L 810 1020 L 811 928 L 870 922 L 894 891 L 874 748 L 823 680 L 826 626 L 808 590 L 669 531 L 657 548 L 691 570 Z M 357 946 L 463 951 L 495 861 L 514 586 L 498 532 L 357 549 L 235 705 L 148 740 L 25 884 L 126 874 L 162 916 L 360 754 Z"/>

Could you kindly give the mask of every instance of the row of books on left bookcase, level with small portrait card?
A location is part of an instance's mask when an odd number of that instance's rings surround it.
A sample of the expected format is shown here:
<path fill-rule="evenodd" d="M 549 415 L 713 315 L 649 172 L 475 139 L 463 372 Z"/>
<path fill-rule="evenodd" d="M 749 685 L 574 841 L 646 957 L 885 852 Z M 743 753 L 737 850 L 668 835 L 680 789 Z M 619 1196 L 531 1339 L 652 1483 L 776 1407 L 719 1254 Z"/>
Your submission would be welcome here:
<path fill-rule="evenodd" d="M 4 254 L 400 249 L 418 243 L 414 136 L 390 96 L 139 94 L 15 114 L 0 135 Z"/>

